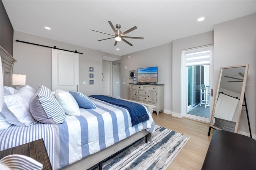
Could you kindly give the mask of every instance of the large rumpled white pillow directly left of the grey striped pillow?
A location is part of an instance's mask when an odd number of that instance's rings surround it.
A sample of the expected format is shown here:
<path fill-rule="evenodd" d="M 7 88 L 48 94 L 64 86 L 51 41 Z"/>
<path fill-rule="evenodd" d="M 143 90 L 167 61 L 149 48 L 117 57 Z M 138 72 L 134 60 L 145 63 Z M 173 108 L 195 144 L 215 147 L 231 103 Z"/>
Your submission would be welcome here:
<path fill-rule="evenodd" d="M 29 110 L 30 98 L 35 92 L 32 87 L 26 85 L 14 95 L 4 96 L 4 107 L 1 113 L 6 121 L 16 126 L 30 126 L 37 123 Z"/>

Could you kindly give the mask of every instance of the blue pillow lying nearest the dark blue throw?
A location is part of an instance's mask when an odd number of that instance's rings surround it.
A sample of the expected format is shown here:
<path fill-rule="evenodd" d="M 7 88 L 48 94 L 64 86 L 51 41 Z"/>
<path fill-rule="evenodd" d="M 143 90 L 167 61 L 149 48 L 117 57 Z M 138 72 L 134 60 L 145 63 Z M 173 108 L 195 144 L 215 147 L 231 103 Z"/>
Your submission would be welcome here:
<path fill-rule="evenodd" d="M 69 91 L 69 93 L 76 99 L 76 102 L 80 107 L 85 109 L 96 108 L 96 105 L 85 94 L 76 91 Z"/>

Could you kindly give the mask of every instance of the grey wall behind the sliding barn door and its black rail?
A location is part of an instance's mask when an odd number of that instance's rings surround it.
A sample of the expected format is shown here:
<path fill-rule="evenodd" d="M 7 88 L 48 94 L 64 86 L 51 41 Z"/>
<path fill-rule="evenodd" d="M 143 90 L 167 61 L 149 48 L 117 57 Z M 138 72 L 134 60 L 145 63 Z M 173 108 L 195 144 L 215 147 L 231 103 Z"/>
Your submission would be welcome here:
<path fill-rule="evenodd" d="M 50 47 L 70 51 L 77 50 L 79 54 L 79 91 L 86 95 L 102 93 L 102 55 L 120 58 L 120 56 L 96 51 L 85 47 L 58 42 L 48 38 L 14 31 L 13 57 L 17 60 L 13 68 L 14 74 L 27 75 L 27 84 L 34 89 L 44 85 L 52 89 L 52 49 L 16 42 L 16 40 L 38 43 Z M 89 85 L 89 67 L 94 67 L 94 85 Z M 83 84 L 86 81 L 86 84 Z"/>

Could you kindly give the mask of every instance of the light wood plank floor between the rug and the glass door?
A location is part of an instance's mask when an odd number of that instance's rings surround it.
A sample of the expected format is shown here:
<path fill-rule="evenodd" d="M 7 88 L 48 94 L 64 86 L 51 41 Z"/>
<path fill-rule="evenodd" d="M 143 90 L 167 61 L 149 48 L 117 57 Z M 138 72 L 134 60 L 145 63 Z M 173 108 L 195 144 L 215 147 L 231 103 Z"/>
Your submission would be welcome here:
<path fill-rule="evenodd" d="M 156 125 L 190 136 L 167 170 L 200 170 L 213 133 L 212 130 L 208 136 L 209 124 L 166 113 L 159 113 L 159 116 L 153 113 L 153 119 Z"/>

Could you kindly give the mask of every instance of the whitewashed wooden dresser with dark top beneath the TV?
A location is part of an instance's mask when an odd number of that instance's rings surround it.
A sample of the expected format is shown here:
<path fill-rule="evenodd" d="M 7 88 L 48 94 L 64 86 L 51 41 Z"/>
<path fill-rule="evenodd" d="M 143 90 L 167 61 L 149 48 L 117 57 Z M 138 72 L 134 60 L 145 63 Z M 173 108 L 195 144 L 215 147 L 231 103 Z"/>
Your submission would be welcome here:
<path fill-rule="evenodd" d="M 156 115 L 164 110 L 164 85 L 162 84 L 132 84 L 130 83 L 130 100 L 156 106 Z"/>

